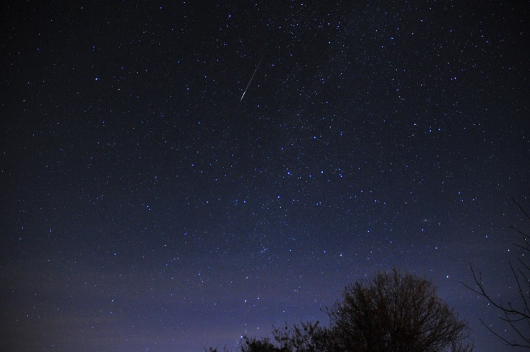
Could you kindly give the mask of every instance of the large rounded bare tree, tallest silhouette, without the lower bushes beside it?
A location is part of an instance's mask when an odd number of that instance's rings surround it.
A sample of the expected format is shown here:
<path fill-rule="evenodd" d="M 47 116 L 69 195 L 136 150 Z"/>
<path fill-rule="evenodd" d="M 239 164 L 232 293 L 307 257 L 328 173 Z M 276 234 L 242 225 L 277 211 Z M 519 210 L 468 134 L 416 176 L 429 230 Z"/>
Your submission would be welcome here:
<path fill-rule="evenodd" d="M 347 286 L 328 309 L 337 351 L 471 351 L 467 323 L 432 282 L 394 269 Z"/>

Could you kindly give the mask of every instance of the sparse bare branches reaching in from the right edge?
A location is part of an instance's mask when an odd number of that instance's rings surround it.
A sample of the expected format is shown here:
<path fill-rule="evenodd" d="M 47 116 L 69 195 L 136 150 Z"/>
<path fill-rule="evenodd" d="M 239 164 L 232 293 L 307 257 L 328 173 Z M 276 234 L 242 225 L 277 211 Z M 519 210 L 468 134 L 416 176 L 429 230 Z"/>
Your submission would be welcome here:
<path fill-rule="evenodd" d="M 530 220 L 530 215 L 524 211 L 522 206 L 520 206 L 515 199 L 512 200 L 524 214 L 527 220 Z M 514 243 L 513 245 L 521 248 L 525 252 L 529 252 L 530 254 L 530 236 L 525 234 L 520 229 L 516 229 L 512 226 L 510 226 L 510 228 L 522 236 L 522 245 L 517 243 Z M 471 264 L 469 266 L 471 268 L 471 274 L 473 275 L 476 287 L 472 288 L 467 284 L 462 284 L 471 291 L 477 293 L 479 296 L 483 296 L 491 305 L 493 305 L 493 307 L 497 308 L 501 312 L 500 319 L 510 326 L 510 330 L 515 332 L 518 338 L 508 339 L 508 337 L 505 337 L 499 334 L 499 332 L 492 330 L 492 328 L 487 326 L 484 321 L 480 319 L 480 323 L 482 323 L 487 330 L 490 330 L 492 334 L 499 337 L 499 339 L 501 339 L 503 342 L 506 342 L 506 344 L 509 346 L 530 349 L 530 265 L 529 263 L 522 261 L 522 259 L 517 259 L 517 261 L 519 263 L 519 267 L 517 268 L 513 266 L 511 262 L 509 263 L 510 270 L 516 282 L 514 287 L 518 298 L 517 303 L 503 303 L 501 300 L 494 300 L 490 293 L 487 293 L 486 291 L 482 280 L 482 273 L 480 273 L 480 271 L 476 273 Z"/>

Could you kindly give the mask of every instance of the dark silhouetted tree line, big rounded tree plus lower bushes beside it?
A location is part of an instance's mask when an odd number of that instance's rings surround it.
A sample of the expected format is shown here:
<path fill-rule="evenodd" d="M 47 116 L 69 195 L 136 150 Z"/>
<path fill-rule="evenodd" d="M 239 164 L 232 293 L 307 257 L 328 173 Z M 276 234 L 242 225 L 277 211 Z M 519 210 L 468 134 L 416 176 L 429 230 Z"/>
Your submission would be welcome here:
<path fill-rule="evenodd" d="M 273 330 L 273 340 L 244 337 L 241 352 L 472 351 L 458 319 L 432 282 L 394 269 L 345 288 L 326 309 L 328 327 L 301 323 Z M 210 348 L 209 352 L 217 352 Z M 225 349 L 226 351 L 226 349 Z"/>

